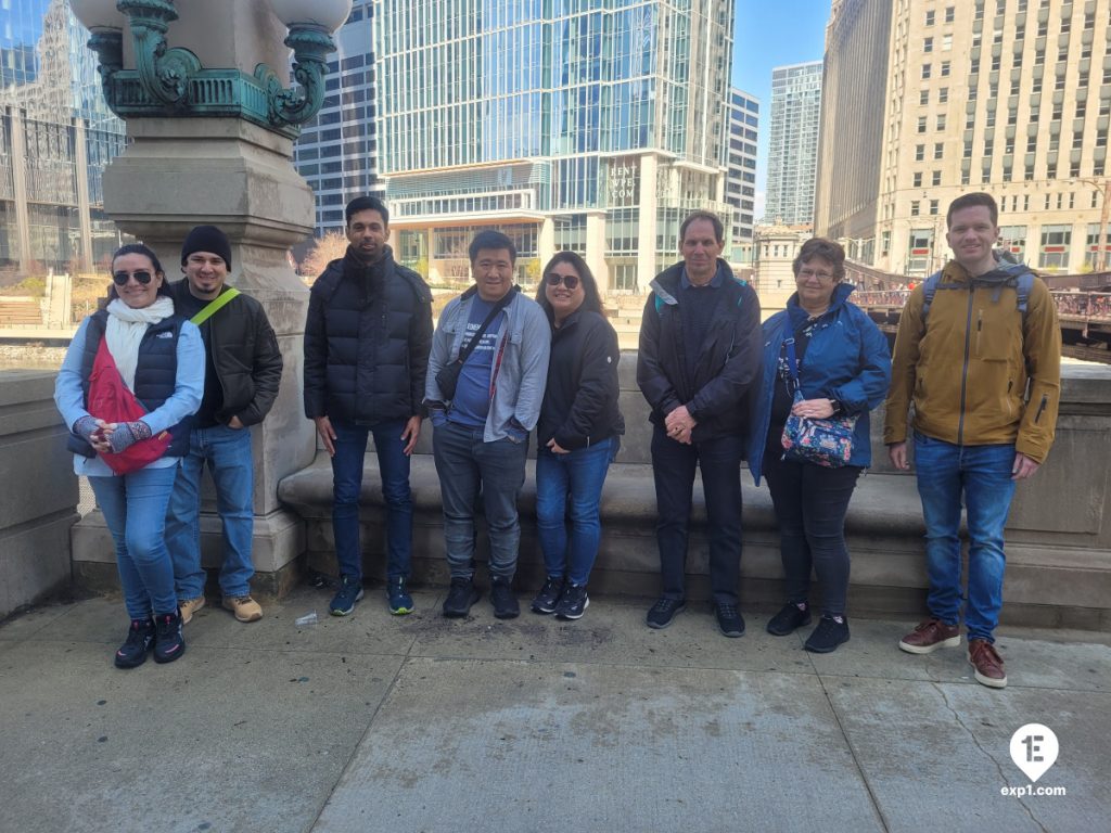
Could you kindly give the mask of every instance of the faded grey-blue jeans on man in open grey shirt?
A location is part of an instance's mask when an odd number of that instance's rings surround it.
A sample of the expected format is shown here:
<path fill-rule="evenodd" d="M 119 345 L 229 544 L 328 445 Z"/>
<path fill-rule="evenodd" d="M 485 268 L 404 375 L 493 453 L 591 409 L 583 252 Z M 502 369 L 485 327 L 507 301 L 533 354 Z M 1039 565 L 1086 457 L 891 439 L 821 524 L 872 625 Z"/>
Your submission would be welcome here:
<path fill-rule="evenodd" d="M 474 576 L 474 512 L 481 492 L 490 535 L 490 575 L 512 580 L 521 543 L 517 498 L 524 485 L 528 438 L 483 442 L 481 428 L 439 422 L 432 433 L 432 451 L 440 475 L 451 578 Z"/>

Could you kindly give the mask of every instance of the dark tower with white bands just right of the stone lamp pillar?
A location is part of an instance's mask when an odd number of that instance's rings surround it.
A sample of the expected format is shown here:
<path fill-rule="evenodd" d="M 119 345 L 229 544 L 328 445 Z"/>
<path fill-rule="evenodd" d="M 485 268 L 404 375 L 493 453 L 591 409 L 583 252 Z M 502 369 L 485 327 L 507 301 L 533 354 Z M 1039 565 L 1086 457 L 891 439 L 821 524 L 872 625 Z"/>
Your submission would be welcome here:
<path fill-rule="evenodd" d="M 293 148 L 297 169 L 316 193 L 318 237 L 343 230 L 343 207 L 356 197 L 382 195 L 376 171 L 373 9 L 357 0 L 336 32 L 324 103 Z"/>

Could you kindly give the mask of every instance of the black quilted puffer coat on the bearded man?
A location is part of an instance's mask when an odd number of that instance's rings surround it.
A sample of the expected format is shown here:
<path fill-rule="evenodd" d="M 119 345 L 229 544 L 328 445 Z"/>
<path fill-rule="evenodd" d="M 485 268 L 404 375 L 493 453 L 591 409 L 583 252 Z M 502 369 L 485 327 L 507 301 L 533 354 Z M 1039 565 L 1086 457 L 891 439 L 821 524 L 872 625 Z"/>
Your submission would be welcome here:
<path fill-rule="evenodd" d="M 348 253 L 312 284 L 304 325 L 304 414 L 360 425 L 422 413 L 432 293 L 393 262 Z"/>

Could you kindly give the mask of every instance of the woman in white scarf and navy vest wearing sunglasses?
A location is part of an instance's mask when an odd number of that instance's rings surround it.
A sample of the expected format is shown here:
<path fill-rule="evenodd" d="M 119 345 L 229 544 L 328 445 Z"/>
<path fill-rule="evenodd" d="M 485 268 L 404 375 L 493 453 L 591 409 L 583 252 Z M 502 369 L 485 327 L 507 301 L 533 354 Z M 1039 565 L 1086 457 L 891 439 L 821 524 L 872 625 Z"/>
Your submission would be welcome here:
<path fill-rule="evenodd" d="M 70 429 L 73 471 L 89 478 L 104 522 L 116 542 L 116 562 L 131 625 L 116 652 L 116 665 L 130 669 L 147 660 L 181 656 L 181 612 L 173 588 L 173 564 L 166 549 L 166 511 L 189 450 L 187 418 L 204 390 L 204 344 L 197 327 L 176 315 L 158 258 L 141 243 L 112 257 L 108 307 L 81 322 L 54 384 L 54 402 Z M 101 341 L 120 377 L 147 414 L 111 422 L 90 413 L 90 377 Z M 121 453 L 134 443 L 170 433 L 162 456 L 117 475 L 101 454 Z"/>

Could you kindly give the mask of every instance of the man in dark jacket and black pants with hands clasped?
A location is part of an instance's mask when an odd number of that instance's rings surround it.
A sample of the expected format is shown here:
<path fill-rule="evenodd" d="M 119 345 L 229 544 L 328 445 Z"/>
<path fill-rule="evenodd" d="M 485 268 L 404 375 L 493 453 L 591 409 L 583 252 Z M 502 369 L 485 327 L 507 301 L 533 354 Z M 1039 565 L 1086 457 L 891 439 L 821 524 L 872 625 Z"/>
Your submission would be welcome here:
<path fill-rule="evenodd" d="M 637 383 L 652 408 L 663 584 L 648 612 L 648 626 L 667 628 L 685 606 L 688 525 L 699 468 L 714 613 L 723 634 L 740 636 L 741 456 L 747 397 L 759 383 L 760 301 L 719 257 L 725 244 L 721 220 L 695 212 L 679 234 L 683 261 L 652 281 L 637 361 Z"/>

